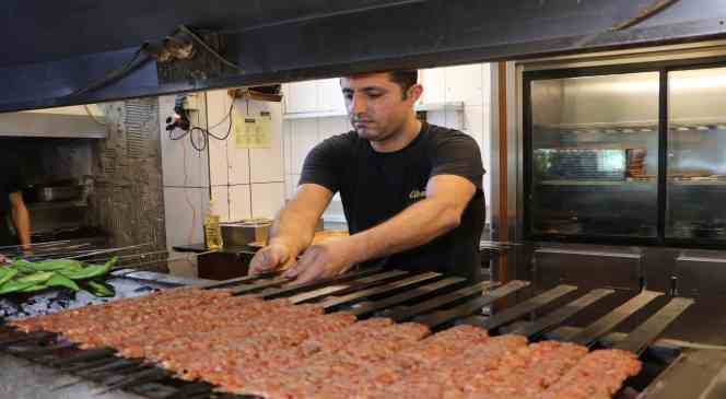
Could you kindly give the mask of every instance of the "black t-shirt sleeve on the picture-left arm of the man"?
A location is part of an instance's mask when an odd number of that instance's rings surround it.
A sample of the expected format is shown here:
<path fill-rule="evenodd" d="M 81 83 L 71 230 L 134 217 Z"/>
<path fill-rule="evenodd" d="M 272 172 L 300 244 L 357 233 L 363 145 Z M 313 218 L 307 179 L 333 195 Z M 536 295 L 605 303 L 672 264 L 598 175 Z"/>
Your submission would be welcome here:
<path fill-rule="evenodd" d="M 340 189 L 341 151 L 344 150 L 342 138 L 332 137 L 315 145 L 305 156 L 300 185 L 320 185 L 333 193 Z"/>

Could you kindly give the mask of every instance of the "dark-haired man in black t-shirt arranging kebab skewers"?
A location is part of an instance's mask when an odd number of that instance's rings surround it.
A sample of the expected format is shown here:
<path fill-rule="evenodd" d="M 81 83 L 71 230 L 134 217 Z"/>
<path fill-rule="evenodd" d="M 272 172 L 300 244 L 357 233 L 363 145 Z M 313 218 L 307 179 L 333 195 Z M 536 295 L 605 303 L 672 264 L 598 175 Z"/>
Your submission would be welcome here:
<path fill-rule="evenodd" d="M 307 155 L 295 196 L 250 273 L 292 266 L 285 275 L 302 283 L 360 265 L 479 278 L 480 151 L 460 131 L 417 118 L 423 92 L 417 79 L 418 71 L 395 71 L 340 80 L 354 130 Z M 337 191 L 350 236 L 311 246 Z"/>

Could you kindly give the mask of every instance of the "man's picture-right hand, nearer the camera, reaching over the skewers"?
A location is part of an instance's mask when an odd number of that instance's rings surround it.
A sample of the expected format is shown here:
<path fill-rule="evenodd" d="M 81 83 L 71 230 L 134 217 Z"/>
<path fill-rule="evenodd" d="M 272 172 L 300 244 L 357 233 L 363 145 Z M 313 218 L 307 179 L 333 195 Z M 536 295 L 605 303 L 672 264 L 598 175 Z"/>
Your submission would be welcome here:
<path fill-rule="evenodd" d="M 351 245 L 349 237 L 311 245 L 284 277 L 293 278 L 295 284 L 301 284 L 344 273 L 355 263 L 355 248 Z"/>

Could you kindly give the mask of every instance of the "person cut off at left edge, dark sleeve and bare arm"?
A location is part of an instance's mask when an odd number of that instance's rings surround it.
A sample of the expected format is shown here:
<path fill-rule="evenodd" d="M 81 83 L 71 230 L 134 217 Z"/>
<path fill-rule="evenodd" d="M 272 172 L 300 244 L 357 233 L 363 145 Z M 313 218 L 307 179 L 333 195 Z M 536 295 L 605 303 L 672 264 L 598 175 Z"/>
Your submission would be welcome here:
<path fill-rule="evenodd" d="M 23 201 L 19 163 L 8 154 L 0 159 L 0 247 L 31 249 L 31 216 Z M 10 223 L 14 227 L 12 231 Z M 2 253 L 2 248 L 0 248 Z M 0 262 L 3 258 L 0 256 Z"/>

